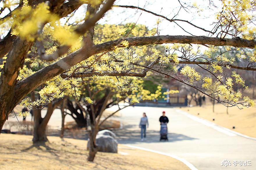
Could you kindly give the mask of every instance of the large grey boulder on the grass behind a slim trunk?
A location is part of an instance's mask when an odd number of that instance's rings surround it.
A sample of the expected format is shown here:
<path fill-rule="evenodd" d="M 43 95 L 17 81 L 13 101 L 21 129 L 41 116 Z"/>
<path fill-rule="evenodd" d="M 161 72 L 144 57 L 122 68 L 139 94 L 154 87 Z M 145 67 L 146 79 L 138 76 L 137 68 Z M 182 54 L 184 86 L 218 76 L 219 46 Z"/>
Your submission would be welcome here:
<path fill-rule="evenodd" d="M 112 135 L 114 135 L 114 137 Z M 89 142 L 90 139 L 88 139 L 87 150 L 90 149 Z M 117 153 L 118 142 L 115 139 L 115 133 L 111 131 L 98 133 L 96 136 L 96 144 L 98 146 L 98 151 L 100 152 Z"/>

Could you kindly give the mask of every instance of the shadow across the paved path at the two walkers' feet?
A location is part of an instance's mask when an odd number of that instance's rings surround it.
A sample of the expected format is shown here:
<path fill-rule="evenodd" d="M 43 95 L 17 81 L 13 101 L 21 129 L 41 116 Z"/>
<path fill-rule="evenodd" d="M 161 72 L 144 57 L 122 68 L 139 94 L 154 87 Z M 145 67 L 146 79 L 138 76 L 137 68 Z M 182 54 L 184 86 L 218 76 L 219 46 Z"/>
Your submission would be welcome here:
<path fill-rule="evenodd" d="M 122 130 L 113 131 L 116 136 L 118 143 L 121 144 L 134 144 L 141 143 L 141 130 L 137 128 L 138 125 L 124 125 Z M 134 130 L 137 128 L 138 130 Z M 168 141 L 161 142 L 176 142 L 182 140 L 196 140 L 197 138 L 191 138 L 177 133 L 168 133 Z M 143 142 L 152 143 L 160 142 L 160 133 L 159 131 L 147 130 L 146 140 Z"/>

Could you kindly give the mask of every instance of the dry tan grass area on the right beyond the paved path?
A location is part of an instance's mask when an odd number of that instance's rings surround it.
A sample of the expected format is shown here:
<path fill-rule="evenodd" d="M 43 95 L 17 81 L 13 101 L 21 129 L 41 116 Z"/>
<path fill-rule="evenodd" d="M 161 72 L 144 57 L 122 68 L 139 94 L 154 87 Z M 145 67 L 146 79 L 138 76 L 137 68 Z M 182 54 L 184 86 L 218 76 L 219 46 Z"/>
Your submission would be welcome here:
<path fill-rule="evenodd" d="M 203 105 L 202 107 L 183 107 L 180 109 L 209 121 L 213 121 L 213 119 L 215 119 L 214 123 L 224 126 L 228 129 L 232 129 L 232 127 L 235 126 L 235 129 L 232 130 L 251 137 L 256 137 L 255 107 L 245 108 L 242 110 L 237 107 L 229 107 L 228 114 L 227 107 L 219 103 L 215 104 L 214 113 L 212 105 Z"/>

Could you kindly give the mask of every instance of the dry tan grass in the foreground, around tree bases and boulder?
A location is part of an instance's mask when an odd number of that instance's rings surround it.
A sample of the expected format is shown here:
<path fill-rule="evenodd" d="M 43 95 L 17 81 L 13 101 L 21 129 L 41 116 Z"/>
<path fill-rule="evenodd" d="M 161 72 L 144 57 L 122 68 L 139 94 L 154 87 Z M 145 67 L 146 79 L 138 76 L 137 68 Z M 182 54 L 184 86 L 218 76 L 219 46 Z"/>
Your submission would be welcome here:
<path fill-rule="evenodd" d="M 33 145 L 30 135 L 0 135 L 0 169 L 189 169 L 182 162 L 157 153 L 119 145 L 118 154 L 98 152 L 87 162 L 86 141 L 48 137 Z"/>

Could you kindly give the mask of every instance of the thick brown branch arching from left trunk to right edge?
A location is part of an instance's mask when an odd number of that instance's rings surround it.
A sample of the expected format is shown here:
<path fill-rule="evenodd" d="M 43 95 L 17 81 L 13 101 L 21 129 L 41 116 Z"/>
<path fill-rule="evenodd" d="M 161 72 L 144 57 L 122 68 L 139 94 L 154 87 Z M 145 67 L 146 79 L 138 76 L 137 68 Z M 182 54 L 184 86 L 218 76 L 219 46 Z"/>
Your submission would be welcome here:
<path fill-rule="evenodd" d="M 133 37 L 126 38 L 130 46 L 140 46 L 148 44 L 163 44 L 163 43 L 181 43 L 181 44 L 212 44 L 215 46 L 235 46 L 235 47 L 247 47 L 254 48 L 256 41 L 249 41 L 245 39 L 219 39 L 205 36 L 171 36 L 161 35 L 152 37 Z M 39 70 L 33 75 L 19 82 L 16 86 L 15 91 L 17 94 L 17 100 L 19 102 L 24 98 L 30 91 L 38 87 L 40 84 L 47 80 L 61 74 L 63 71 L 71 68 L 77 63 L 87 59 L 88 57 L 99 54 L 108 50 L 113 49 L 114 46 L 120 43 L 120 39 L 115 41 L 108 41 L 106 43 L 98 44 L 92 47 L 84 46 L 83 48 L 67 55 L 65 58 L 51 64 L 50 66 Z"/>

